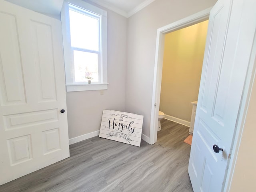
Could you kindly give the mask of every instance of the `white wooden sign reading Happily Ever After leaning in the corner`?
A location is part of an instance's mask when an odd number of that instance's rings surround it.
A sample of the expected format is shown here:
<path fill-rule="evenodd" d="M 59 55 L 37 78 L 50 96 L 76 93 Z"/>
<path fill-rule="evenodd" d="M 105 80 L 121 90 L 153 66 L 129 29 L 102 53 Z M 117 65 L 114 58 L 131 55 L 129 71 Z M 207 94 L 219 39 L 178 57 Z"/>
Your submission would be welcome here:
<path fill-rule="evenodd" d="M 140 146 L 143 115 L 103 110 L 100 137 Z"/>

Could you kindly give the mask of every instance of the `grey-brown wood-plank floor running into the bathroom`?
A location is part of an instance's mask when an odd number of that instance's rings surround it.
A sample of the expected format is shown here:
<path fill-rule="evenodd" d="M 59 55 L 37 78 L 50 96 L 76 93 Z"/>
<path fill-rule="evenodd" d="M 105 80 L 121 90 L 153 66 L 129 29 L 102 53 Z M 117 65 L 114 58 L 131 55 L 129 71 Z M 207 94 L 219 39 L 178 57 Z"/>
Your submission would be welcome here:
<path fill-rule="evenodd" d="M 193 192 L 188 127 L 163 119 L 158 141 L 131 146 L 99 137 L 70 145 L 70 158 L 0 186 L 0 192 Z"/>

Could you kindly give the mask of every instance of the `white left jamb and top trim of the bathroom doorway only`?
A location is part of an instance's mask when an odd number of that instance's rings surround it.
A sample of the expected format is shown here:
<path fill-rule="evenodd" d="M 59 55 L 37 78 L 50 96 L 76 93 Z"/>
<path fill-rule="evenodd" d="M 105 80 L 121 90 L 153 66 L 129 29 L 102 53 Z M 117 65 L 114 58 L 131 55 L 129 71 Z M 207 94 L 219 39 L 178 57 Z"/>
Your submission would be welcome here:
<path fill-rule="evenodd" d="M 159 105 L 160 105 L 165 34 L 208 20 L 210 10 L 211 8 L 208 8 L 206 10 L 203 10 L 201 12 L 188 16 L 182 20 L 178 20 L 162 28 L 158 28 L 157 30 L 156 56 L 155 56 L 155 67 L 154 67 L 154 84 L 153 84 L 153 92 L 152 92 L 152 106 L 155 106 L 155 107 L 152 107 L 152 110 L 151 110 L 150 138 L 149 138 L 150 144 L 156 143 L 156 140 L 157 140 L 158 111 L 159 111 Z"/>

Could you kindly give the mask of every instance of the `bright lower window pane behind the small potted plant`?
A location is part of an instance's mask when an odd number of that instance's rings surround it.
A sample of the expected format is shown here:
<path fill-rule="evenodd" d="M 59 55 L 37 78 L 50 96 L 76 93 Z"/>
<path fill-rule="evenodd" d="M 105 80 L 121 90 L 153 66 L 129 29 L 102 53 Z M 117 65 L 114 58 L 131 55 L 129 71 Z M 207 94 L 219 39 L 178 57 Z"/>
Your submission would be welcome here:
<path fill-rule="evenodd" d="M 74 50 L 74 69 L 76 82 L 87 82 L 86 77 L 98 82 L 98 54 Z"/>

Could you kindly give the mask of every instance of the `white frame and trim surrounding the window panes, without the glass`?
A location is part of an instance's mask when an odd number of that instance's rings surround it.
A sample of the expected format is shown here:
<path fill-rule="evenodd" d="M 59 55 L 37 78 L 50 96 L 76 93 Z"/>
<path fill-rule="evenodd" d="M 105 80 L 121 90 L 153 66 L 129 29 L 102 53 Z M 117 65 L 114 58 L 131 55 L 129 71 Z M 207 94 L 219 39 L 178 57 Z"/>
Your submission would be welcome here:
<path fill-rule="evenodd" d="M 101 17 L 100 25 L 100 37 L 99 56 L 99 83 L 88 84 L 86 82 L 75 82 L 74 76 L 74 55 L 73 48 L 71 47 L 70 37 L 70 20 L 69 20 L 69 5 L 72 10 L 78 8 L 79 11 L 85 10 L 86 14 L 96 14 Z M 86 90 L 105 90 L 108 89 L 108 77 L 107 77 L 107 12 L 96 6 L 88 4 L 82 0 L 64 0 L 61 10 L 62 21 L 62 36 L 63 36 L 63 49 L 64 49 L 64 64 L 66 74 L 66 90 L 72 91 L 86 91 Z"/>

